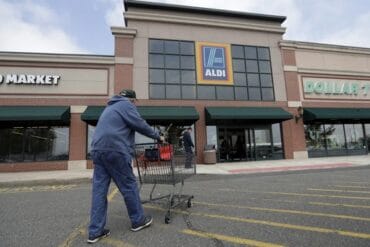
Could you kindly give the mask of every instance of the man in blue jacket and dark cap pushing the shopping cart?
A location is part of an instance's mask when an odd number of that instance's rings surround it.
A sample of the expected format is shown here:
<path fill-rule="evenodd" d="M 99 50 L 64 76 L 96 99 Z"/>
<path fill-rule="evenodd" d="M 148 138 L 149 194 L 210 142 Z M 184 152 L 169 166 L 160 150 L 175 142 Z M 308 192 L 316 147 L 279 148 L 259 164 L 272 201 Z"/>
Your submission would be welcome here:
<path fill-rule="evenodd" d="M 131 162 L 135 151 L 135 131 L 160 142 L 163 137 L 141 118 L 135 102 L 135 91 L 122 90 L 108 101 L 96 126 L 91 143 L 94 174 L 88 243 L 110 235 L 104 227 L 111 180 L 124 198 L 132 231 L 148 227 L 153 221 L 151 216 L 144 215 Z"/>

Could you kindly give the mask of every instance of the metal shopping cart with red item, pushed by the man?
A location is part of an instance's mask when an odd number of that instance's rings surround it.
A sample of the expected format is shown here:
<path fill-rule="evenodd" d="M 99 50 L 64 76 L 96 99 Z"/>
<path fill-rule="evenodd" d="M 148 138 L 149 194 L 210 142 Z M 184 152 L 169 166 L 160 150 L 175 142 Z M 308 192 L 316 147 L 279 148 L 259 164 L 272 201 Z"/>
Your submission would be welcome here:
<path fill-rule="evenodd" d="M 194 155 L 187 155 L 184 152 L 174 152 L 170 144 L 145 143 L 135 146 L 135 161 L 140 181 L 140 190 L 143 184 L 153 184 L 148 200 L 142 203 L 150 203 L 157 200 L 167 200 L 167 213 L 165 223 L 171 222 L 171 209 L 187 203 L 191 207 L 192 195 L 183 195 L 182 189 L 184 180 L 196 174 L 196 165 Z M 185 168 L 191 165 L 190 168 Z M 181 186 L 176 193 L 176 185 Z M 153 197 L 154 189 L 157 184 L 172 185 L 172 191 L 167 195 Z"/>

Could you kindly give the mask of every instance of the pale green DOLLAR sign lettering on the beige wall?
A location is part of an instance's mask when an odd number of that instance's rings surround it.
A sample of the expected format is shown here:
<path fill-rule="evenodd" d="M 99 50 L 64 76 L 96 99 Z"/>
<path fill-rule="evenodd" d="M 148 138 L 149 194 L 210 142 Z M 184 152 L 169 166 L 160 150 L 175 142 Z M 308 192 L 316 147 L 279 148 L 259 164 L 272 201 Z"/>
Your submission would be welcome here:
<path fill-rule="evenodd" d="M 303 77 L 308 99 L 370 100 L 370 80 Z"/>

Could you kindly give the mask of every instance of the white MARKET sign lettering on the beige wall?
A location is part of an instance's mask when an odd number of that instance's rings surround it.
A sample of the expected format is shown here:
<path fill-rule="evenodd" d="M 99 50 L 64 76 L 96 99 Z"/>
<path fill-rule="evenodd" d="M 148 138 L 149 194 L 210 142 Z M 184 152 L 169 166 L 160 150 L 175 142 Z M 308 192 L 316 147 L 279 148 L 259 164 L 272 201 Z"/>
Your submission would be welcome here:
<path fill-rule="evenodd" d="M 58 85 L 60 75 L 0 74 L 0 84 Z"/>

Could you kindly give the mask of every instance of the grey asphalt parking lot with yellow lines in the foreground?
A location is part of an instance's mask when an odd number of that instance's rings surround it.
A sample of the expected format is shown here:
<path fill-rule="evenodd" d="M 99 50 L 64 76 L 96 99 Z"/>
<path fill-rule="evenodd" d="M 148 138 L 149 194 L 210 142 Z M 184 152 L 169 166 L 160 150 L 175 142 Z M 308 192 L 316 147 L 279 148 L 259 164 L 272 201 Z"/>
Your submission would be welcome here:
<path fill-rule="evenodd" d="M 197 175 L 185 181 L 193 205 L 164 223 L 161 203 L 145 204 L 153 225 L 131 232 L 112 186 L 107 228 L 94 246 L 370 246 L 370 168 L 250 175 Z M 151 189 L 144 185 L 142 198 Z M 159 186 L 155 195 L 171 186 Z M 90 184 L 0 188 L 2 246 L 85 246 Z"/>

